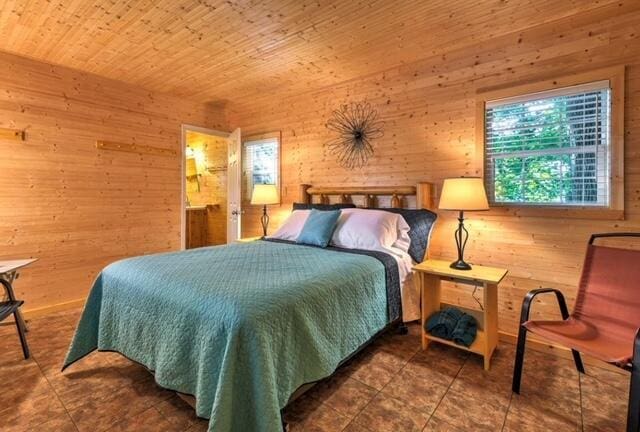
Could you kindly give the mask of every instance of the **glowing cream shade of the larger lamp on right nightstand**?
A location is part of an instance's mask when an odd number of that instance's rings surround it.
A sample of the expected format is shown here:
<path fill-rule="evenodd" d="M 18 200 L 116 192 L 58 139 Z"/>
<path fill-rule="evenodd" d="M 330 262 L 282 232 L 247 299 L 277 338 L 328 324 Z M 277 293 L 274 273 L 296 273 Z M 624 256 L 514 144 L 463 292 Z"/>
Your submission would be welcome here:
<path fill-rule="evenodd" d="M 445 179 L 440 194 L 441 210 L 489 210 L 484 183 L 479 177 Z"/>

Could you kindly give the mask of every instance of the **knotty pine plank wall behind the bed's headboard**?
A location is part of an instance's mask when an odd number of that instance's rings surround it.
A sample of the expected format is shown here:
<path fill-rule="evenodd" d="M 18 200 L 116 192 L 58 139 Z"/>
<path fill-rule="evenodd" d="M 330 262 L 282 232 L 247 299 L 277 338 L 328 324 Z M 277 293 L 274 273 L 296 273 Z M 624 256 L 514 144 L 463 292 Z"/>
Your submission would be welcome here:
<path fill-rule="evenodd" d="M 282 130 L 283 204 L 271 207 L 272 230 L 288 214 L 300 183 L 356 186 L 431 181 L 441 185 L 446 177 L 476 174 L 478 90 L 624 64 L 626 220 L 468 214 L 469 260 L 510 272 L 499 296 L 503 332 L 516 332 L 522 298 L 533 288 L 558 287 L 573 303 L 589 234 L 640 230 L 638 6 L 637 2 L 606 5 L 482 43 L 470 40 L 466 47 L 317 91 L 234 100 L 228 112 L 233 127 L 242 127 L 245 134 Z M 386 122 L 385 135 L 376 143 L 369 166 L 345 170 L 327 151 L 329 135 L 324 124 L 340 104 L 365 99 Z M 243 235 L 258 235 L 259 209 L 248 210 Z M 454 215 L 440 212 L 431 246 L 434 257 L 454 256 L 454 229 Z M 467 292 L 455 289 L 445 300 L 475 304 Z M 552 300 L 540 298 L 536 316 L 556 317 Z"/>

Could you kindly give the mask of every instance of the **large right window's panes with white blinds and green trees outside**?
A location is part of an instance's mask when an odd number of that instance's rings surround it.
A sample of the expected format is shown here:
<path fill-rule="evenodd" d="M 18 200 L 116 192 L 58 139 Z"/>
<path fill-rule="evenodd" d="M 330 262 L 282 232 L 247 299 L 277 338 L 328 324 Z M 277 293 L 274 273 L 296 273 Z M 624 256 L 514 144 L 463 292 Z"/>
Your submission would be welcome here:
<path fill-rule="evenodd" d="M 608 205 L 608 88 L 488 104 L 487 189 L 494 203 Z"/>

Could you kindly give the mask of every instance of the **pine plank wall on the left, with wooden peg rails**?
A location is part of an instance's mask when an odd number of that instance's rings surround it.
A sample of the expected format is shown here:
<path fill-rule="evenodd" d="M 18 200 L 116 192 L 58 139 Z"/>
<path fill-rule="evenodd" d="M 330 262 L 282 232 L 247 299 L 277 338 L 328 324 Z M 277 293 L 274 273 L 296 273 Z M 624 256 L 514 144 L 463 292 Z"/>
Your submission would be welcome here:
<path fill-rule="evenodd" d="M 180 247 L 181 123 L 225 129 L 222 110 L 0 53 L 0 259 L 38 257 L 25 308 L 84 299 L 119 258 Z M 99 150 L 96 140 L 176 150 Z"/>

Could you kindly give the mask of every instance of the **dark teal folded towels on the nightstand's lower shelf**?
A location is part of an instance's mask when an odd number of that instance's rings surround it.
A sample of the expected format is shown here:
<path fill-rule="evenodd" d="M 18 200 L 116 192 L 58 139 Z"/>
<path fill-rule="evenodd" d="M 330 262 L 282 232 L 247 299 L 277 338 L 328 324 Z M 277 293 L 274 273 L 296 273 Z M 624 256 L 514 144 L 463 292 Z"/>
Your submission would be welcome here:
<path fill-rule="evenodd" d="M 478 334 L 478 322 L 460 309 L 448 307 L 432 314 L 425 330 L 435 337 L 470 347 Z"/>

